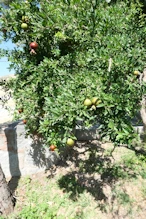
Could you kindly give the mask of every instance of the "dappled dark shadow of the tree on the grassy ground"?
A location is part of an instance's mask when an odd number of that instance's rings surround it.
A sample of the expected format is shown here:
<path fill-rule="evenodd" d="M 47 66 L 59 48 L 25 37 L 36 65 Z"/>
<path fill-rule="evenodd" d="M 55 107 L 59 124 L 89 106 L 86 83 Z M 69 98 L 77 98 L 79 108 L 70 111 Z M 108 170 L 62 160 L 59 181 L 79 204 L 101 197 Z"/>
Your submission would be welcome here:
<path fill-rule="evenodd" d="M 143 149 L 141 152 L 145 154 L 146 150 Z M 86 190 L 98 201 L 102 211 L 108 200 L 104 192 L 106 186 L 112 189 L 120 179 L 136 179 L 139 175 L 142 178 L 146 177 L 146 171 L 142 171 L 143 174 L 136 172 L 132 163 L 128 165 L 126 162 L 114 162 L 112 153 L 106 154 L 97 141 L 79 142 L 76 147 L 64 150 L 57 165 L 57 168 L 59 167 L 70 167 L 70 170 L 58 180 L 63 192 L 69 193 L 69 197 L 76 201 Z"/>

